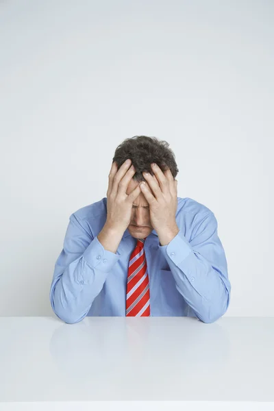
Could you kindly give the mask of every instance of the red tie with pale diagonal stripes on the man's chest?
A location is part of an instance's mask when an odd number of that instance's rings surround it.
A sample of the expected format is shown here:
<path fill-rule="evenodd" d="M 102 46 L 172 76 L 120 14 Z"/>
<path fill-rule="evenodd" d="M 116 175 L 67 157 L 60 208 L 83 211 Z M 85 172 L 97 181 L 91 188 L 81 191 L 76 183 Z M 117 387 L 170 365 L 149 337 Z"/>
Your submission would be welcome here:
<path fill-rule="evenodd" d="M 146 238 L 137 238 L 129 258 L 125 316 L 150 316 L 149 275 L 144 249 Z"/>

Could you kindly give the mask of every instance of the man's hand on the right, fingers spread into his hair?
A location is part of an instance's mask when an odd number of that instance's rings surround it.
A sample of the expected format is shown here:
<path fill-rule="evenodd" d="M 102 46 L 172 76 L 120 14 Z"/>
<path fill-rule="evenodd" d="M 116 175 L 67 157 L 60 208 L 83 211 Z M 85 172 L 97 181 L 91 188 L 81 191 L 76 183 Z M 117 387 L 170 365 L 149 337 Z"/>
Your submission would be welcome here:
<path fill-rule="evenodd" d="M 164 233 L 177 227 L 177 180 L 169 168 L 163 173 L 157 164 L 154 167 L 151 164 L 151 169 L 153 176 L 142 173 L 149 186 L 140 184 L 140 188 L 149 203 L 151 225 L 156 232 Z"/>

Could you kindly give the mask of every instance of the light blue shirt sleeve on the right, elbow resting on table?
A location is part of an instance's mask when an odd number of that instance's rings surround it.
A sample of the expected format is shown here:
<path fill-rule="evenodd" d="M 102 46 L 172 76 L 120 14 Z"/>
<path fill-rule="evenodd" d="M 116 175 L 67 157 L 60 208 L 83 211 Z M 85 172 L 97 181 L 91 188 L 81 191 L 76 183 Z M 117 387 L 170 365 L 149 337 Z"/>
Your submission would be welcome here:
<path fill-rule="evenodd" d="M 225 314 L 231 291 L 214 213 L 199 216 L 192 234 L 188 242 L 179 229 L 168 245 L 159 247 L 171 268 L 177 290 L 198 319 L 212 323 Z"/>

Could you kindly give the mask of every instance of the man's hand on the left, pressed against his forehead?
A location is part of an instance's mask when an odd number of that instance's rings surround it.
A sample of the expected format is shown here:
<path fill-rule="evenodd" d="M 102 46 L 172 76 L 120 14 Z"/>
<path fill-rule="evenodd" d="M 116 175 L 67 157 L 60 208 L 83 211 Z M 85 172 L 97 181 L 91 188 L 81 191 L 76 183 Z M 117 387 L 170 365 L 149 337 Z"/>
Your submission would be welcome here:
<path fill-rule="evenodd" d="M 138 184 L 129 195 L 126 194 L 127 186 L 136 172 L 133 164 L 130 166 L 131 162 L 131 160 L 129 160 L 129 164 L 124 162 L 119 170 L 116 162 L 113 162 L 108 175 L 107 220 L 105 224 L 112 229 L 123 230 L 123 232 L 131 220 L 132 204 L 141 192 Z"/>

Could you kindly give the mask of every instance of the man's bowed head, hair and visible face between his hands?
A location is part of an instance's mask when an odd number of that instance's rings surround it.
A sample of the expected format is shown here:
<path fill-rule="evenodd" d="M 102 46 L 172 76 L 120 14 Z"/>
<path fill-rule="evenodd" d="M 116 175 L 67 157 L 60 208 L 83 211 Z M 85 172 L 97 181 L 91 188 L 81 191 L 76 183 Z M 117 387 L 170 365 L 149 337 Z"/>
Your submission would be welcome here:
<path fill-rule="evenodd" d="M 127 186 L 127 194 L 132 192 L 140 182 L 146 181 L 142 175 L 143 171 L 148 171 L 153 175 L 151 170 L 151 163 L 153 162 L 158 164 L 163 172 L 168 167 L 174 179 L 179 171 L 175 162 L 175 155 L 169 148 L 169 143 L 165 140 L 158 140 L 155 137 L 134 136 L 124 140 L 116 148 L 112 161 L 115 161 L 118 169 L 120 169 L 127 158 L 132 160 L 136 170 Z M 142 192 L 140 192 L 133 203 L 132 218 L 127 229 L 134 238 L 145 238 L 153 230 L 150 222 L 149 203 Z"/>

